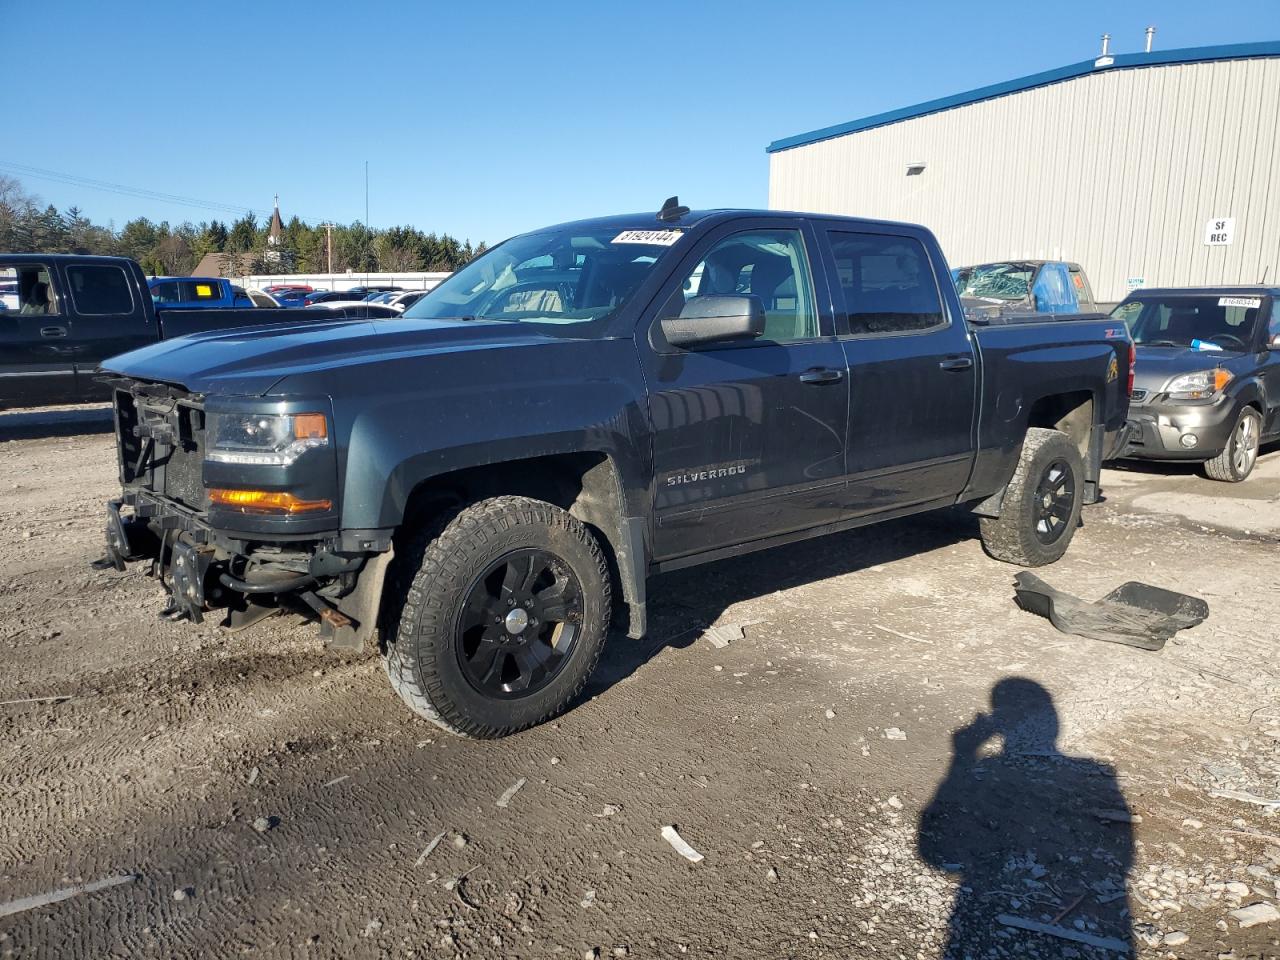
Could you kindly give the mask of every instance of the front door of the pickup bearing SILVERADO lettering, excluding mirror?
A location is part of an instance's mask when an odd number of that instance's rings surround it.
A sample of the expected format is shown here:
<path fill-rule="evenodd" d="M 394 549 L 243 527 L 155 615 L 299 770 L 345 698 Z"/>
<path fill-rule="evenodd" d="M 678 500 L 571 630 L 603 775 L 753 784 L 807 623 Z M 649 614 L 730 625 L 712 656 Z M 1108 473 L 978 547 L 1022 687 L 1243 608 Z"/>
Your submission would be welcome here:
<path fill-rule="evenodd" d="M 739 221 L 690 252 L 646 317 L 657 561 L 840 518 L 849 378 L 810 228 Z M 764 335 L 671 347 L 660 320 L 705 294 L 758 297 Z M 648 348 L 645 348 L 648 347 Z"/>

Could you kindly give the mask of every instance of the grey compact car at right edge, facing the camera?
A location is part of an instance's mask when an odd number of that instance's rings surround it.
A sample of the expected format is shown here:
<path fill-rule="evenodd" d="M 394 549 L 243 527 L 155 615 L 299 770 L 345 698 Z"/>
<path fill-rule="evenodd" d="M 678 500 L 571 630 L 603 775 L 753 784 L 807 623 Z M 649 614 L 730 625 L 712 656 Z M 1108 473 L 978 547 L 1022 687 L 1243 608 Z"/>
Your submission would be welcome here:
<path fill-rule="evenodd" d="M 1137 347 L 1132 460 L 1198 461 L 1240 483 L 1280 439 L 1277 287 L 1134 291 L 1111 314 Z"/>

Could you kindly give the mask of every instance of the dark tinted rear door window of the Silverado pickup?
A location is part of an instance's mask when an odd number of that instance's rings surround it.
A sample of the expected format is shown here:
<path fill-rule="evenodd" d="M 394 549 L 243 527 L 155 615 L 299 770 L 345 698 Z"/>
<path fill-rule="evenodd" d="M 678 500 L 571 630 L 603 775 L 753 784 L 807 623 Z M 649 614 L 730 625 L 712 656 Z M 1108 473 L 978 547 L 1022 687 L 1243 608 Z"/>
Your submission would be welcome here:
<path fill-rule="evenodd" d="M 829 237 L 850 333 L 919 333 L 946 325 L 923 243 L 914 237 L 873 233 Z"/>

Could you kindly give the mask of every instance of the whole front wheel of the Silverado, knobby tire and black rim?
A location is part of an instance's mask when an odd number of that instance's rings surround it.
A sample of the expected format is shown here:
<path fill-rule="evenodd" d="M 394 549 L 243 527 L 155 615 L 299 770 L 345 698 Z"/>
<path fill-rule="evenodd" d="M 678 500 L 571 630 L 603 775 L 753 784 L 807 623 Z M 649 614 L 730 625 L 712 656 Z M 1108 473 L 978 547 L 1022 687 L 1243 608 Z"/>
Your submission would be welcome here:
<path fill-rule="evenodd" d="M 500 737 L 582 690 L 609 625 L 609 571 L 566 511 L 495 497 L 424 531 L 388 600 L 384 662 L 401 699 L 452 733 Z"/>

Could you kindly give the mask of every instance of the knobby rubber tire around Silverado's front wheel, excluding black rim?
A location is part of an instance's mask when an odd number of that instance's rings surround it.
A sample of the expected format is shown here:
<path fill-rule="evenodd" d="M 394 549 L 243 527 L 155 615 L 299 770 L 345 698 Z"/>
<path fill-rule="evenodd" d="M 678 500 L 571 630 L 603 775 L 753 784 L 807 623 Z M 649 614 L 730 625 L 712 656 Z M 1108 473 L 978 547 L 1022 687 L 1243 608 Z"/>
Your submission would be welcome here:
<path fill-rule="evenodd" d="M 582 588 L 582 625 L 547 686 L 493 699 L 462 673 L 456 618 L 476 577 L 525 549 L 568 564 Z M 463 737 L 507 736 L 563 712 L 595 669 L 611 620 L 609 570 L 595 536 L 559 507 L 527 497 L 494 497 L 439 517 L 397 557 L 389 581 L 383 662 L 392 687 L 413 713 Z"/>

